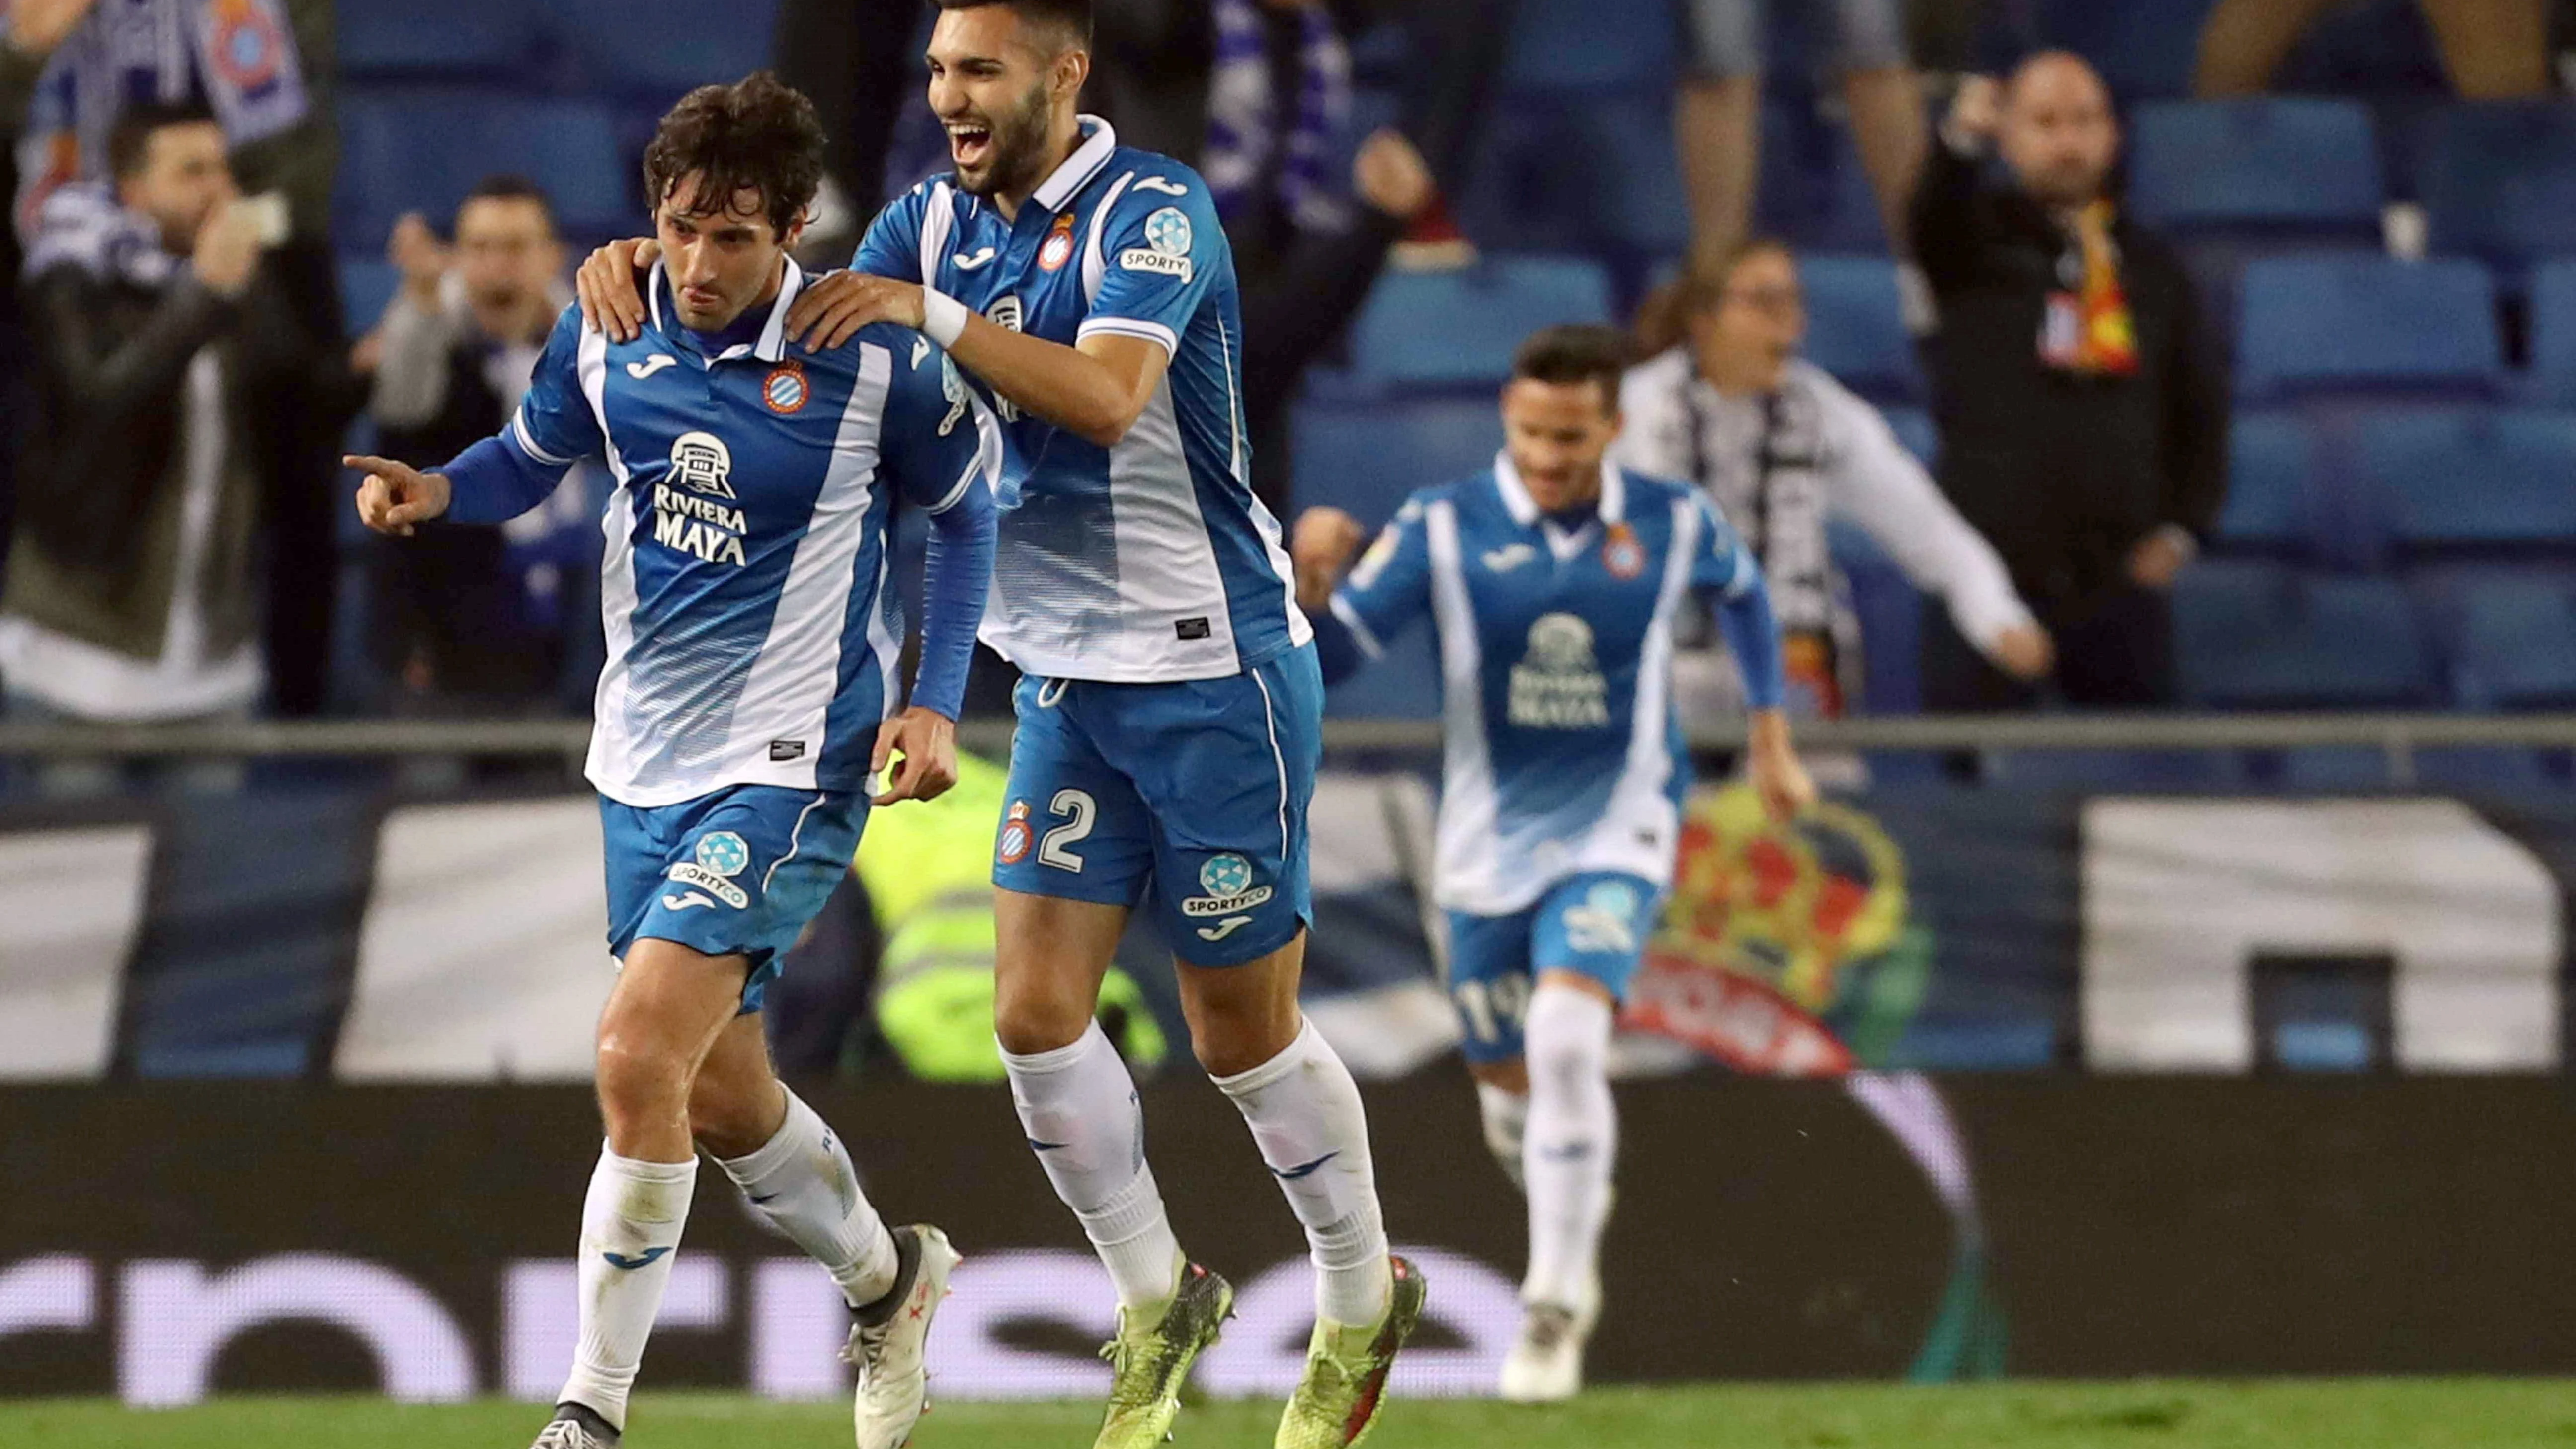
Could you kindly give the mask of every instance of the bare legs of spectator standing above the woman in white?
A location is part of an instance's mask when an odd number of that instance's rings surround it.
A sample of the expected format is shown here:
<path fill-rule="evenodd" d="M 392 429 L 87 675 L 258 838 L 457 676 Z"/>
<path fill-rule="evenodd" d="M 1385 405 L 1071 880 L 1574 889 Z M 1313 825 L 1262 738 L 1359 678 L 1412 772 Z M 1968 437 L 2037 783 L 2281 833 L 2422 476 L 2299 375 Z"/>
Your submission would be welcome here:
<path fill-rule="evenodd" d="M 1906 206 L 1924 160 L 1924 106 L 1906 57 L 1901 0 L 1677 0 L 1685 80 L 1674 101 L 1682 180 L 1690 188 L 1690 260 L 1710 271 L 1752 227 L 1762 131 L 1762 26 L 1767 10 L 1829 28 L 1842 103 L 1860 165 L 1896 255 L 1906 255 Z"/>

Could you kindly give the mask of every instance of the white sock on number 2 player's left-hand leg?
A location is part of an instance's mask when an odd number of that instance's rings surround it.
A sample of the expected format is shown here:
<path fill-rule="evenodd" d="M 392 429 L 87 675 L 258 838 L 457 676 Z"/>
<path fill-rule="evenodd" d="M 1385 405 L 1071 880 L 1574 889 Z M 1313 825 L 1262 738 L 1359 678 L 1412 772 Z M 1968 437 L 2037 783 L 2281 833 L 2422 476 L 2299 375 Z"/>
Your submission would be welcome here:
<path fill-rule="evenodd" d="M 1092 1021 L 1072 1047 L 1030 1057 L 1002 1052 L 1002 1065 L 1028 1145 L 1056 1196 L 1082 1220 L 1082 1235 L 1118 1284 L 1118 1302 L 1170 1302 L 1180 1292 L 1180 1240 L 1162 1212 L 1154 1168 L 1144 1163 L 1144 1109 L 1118 1047 Z"/>

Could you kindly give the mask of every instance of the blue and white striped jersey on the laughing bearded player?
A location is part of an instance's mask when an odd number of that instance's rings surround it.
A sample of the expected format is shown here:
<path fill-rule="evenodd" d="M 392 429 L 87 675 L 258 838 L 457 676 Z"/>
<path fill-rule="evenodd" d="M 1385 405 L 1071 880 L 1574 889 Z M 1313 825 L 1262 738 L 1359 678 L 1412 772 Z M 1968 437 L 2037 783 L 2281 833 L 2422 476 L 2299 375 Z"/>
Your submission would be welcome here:
<path fill-rule="evenodd" d="M 1234 250 L 1195 170 L 1082 124 L 1018 222 L 940 175 L 876 217 L 853 266 L 1051 343 L 1121 333 L 1172 353 L 1113 449 L 999 405 L 1028 474 L 999 523 L 984 642 L 1048 678 L 1226 678 L 1311 637 L 1280 526 L 1252 498 Z"/>

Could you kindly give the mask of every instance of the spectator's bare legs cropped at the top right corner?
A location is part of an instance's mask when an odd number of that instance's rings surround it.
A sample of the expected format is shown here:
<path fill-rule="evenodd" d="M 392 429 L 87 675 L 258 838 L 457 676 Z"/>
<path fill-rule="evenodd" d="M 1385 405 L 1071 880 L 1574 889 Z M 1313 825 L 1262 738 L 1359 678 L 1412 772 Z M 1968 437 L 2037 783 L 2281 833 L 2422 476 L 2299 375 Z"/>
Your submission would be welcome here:
<path fill-rule="evenodd" d="M 2254 95 L 2316 21 L 2354 0 L 2218 0 L 2200 28 L 2200 95 Z M 2419 0 L 2442 70 L 2468 101 L 2545 95 L 2548 0 Z"/>

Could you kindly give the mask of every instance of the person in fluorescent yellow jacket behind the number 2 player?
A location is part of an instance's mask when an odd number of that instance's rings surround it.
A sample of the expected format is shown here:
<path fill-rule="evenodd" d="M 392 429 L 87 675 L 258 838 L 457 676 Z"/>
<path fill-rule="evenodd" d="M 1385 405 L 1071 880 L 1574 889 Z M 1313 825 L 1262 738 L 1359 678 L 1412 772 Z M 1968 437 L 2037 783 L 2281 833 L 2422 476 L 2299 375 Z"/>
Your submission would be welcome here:
<path fill-rule="evenodd" d="M 1007 779 L 961 750 L 958 784 L 912 810 L 878 812 L 853 861 L 886 938 L 876 1029 L 922 1080 L 1002 1080 L 992 1039 L 992 830 Z M 1139 1073 L 1162 1065 L 1167 1042 L 1154 1008 L 1118 967 L 1100 985 L 1100 1026 Z"/>

